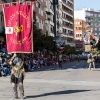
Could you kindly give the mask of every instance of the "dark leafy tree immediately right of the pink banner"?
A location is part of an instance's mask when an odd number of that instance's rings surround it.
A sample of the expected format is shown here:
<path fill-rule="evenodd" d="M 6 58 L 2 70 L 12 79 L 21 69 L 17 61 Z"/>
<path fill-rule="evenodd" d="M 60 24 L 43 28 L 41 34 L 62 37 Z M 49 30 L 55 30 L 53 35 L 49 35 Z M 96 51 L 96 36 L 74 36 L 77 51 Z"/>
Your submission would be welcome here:
<path fill-rule="evenodd" d="M 43 34 L 40 29 L 36 27 L 36 20 L 33 22 L 33 44 L 34 51 L 42 51 L 47 49 L 48 51 L 54 50 L 53 37 L 48 34 Z"/>

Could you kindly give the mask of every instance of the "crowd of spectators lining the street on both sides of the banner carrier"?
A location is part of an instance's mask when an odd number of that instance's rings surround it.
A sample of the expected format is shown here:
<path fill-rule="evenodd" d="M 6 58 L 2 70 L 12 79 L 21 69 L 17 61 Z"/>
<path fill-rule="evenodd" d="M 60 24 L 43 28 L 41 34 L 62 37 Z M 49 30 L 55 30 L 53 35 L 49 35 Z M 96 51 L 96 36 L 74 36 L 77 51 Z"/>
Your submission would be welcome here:
<path fill-rule="evenodd" d="M 7 53 L 7 48 L 5 43 L 0 41 L 0 75 L 7 76 L 10 75 L 10 66 L 6 64 L 5 59 L 10 58 L 11 55 Z M 71 62 L 77 60 L 75 55 L 62 55 L 63 63 Z M 33 71 L 43 67 L 49 67 L 53 65 L 58 65 L 58 54 L 48 51 L 34 52 L 31 54 L 24 55 L 24 68 L 25 71 Z"/>

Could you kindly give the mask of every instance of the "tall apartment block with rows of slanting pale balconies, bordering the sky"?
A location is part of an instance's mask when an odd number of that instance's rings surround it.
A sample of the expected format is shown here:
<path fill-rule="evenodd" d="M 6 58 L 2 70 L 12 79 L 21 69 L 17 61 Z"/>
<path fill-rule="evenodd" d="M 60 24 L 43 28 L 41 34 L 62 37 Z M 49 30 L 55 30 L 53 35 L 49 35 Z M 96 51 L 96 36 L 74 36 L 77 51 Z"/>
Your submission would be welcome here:
<path fill-rule="evenodd" d="M 57 34 L 61 34 L 66 45 L 74 44 L 74 0 L 59 0 L 57 5 Z"/>

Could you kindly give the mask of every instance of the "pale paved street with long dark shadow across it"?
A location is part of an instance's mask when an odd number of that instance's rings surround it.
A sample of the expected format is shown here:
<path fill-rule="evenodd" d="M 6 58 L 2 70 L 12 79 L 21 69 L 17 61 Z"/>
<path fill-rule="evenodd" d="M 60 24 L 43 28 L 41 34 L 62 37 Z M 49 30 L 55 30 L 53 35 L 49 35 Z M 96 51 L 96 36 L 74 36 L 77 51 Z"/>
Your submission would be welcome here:
<path fill-rule="evenodd" d="M 99 100 L 100 68 L 91 71 L 86 61 L 74 61 L 27 72 L 24 80 L 26 100 Z M 11 100 L 10 77 L 0 78 L 0 100 Z"/>

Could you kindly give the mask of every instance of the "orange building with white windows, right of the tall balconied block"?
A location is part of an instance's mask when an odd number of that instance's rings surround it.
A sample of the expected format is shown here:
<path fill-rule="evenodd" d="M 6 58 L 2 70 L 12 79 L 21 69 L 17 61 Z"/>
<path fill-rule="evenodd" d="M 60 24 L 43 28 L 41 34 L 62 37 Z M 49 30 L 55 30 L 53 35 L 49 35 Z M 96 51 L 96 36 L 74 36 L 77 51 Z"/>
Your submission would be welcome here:
<path fill-rule="evenodd" d="M 76 51 L 85 50 L 83 42 L 83 34 L 85 32 L 85 21 L 81 19 L 74 19 L 74 40 Z"/>

